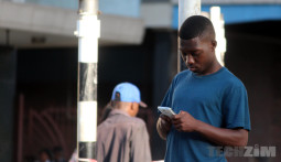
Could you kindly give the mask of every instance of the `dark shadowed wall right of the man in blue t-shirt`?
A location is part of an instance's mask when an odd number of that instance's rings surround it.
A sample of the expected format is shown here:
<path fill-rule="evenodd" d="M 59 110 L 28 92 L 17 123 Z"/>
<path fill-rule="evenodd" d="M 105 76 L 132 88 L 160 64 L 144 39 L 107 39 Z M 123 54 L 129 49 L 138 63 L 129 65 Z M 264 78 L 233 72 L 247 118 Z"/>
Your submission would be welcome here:
<path fill-rule="evenodd" d="M 248 90 L 251 118 L 248 145 L 277 147 L 277 158 L 233 158 L 229 162 L 280 161 L 281 36 L 277 34 L 280 26 L 280 22 L 257 22 L 226 28 L 226 67 Z"/>

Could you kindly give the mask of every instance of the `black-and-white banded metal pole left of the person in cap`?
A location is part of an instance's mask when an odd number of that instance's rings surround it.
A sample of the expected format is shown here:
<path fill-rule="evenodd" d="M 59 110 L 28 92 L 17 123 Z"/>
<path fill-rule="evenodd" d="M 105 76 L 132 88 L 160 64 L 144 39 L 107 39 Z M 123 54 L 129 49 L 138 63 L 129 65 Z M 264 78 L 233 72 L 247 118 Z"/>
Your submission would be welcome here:
<path fill-rule="evenodd" d="M 79 0 L 78 36 L 78 110 L 77 152 L 78 162 L 96 159 L 97 141 L 97 67 L 98 0 Z"/>

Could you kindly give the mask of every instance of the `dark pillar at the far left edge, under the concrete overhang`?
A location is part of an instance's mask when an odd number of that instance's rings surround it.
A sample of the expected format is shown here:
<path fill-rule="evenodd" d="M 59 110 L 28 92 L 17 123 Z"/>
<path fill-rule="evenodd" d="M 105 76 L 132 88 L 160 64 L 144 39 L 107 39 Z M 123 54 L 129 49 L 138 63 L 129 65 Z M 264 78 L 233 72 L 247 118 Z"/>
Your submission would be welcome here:
<path fill-rule="evenodd" d="M 17 53 L 0 46 L 0 161 L 13 161 L 17 111 Z"/>

